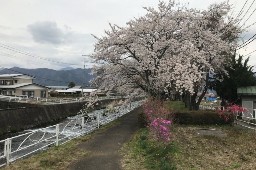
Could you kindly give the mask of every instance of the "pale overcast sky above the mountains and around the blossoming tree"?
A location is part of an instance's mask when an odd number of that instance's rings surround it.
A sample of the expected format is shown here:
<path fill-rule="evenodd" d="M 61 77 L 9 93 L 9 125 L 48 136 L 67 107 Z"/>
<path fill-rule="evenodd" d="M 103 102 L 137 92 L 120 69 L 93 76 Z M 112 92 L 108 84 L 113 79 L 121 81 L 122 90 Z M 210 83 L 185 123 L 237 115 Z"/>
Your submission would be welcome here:
<path fill-rule="evenodd" d="M 230 4 L 235 6 L 236 14 L 242 9 L 245 1 L 230 0 Z M 222 1 L 188 2 L 189 8 L 206 9 L 212 2 Z M 248 0 L 245 12 L 252 2 L 253 0 Z M 158 0 L 1 0 L 0 66 L 46 67 L 56 70 L 67 66 L 82 68 L 82 54 L 93 53 L 96 40 L 91 34 L 104 35 L 104 30 L 109 30 L 108 22 L 126 26 L 128 20 L 146 13 L 142 6 L 157 7 L 157 4 Z M 256 2 L 246 14 L 246 19 L 255 8 Z M 256 12 L 246 22 L 246 26 L 255 21 Z M 244 34 L 245 40 L 255 33 L 256 26 L 252 26 L 250 32 Z M 238 52 L 246 55 L 256 50 L 256 40 L 246 47 L 247 49 Z M 45 59 L 77 65 L 38 59 L 18 53 L 17 49 Z M 249 64 L 256 65 L 256 51 L 251 54 Z"/>

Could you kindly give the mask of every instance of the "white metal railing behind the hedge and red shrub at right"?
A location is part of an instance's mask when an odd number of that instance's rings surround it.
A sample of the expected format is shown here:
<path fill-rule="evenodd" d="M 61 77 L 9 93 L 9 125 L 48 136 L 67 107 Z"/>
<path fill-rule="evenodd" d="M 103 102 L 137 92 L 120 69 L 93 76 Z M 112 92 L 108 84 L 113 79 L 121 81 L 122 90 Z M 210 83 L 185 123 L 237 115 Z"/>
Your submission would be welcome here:
<path fill-rule="evenodd" d="M 227 107 L 221 106 L 211 106 L 211 105 L 199 105 L 200 110 L 224 110 Z M 246 109 L 246 108 L 244 108 Z M 234 123 L 235 125 L 240 125 L 242 127 L 250 128 L 256 130 L 256 109 L 246 109 L 246 112 L 241 111 L 235 114 Z"/>

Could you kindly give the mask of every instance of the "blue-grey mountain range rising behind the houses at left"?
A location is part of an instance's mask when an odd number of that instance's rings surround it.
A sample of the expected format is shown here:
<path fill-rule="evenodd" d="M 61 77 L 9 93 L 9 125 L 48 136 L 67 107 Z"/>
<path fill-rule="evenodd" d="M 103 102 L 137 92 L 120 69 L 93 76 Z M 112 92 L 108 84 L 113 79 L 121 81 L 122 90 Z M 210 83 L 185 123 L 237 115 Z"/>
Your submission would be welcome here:
<path fill-rule="evenodd" d="M 83 69 L 59 71 L 47 68 L 24 69 L 20 67 L 12 67 L 10 69 L 11 70 L 3 69 L 0 74 L 29 74 L 37 77 L 34 79 L 34 83 L 44 86 L 67 86 L 70 81 L 73 81 L 76 85 L 82 85 L 83 82 Z M 89 81 L 95 77 L 90 75 L 90 72 L 91 69 L 85 69 L 84 85 L 88 85 Z"/>

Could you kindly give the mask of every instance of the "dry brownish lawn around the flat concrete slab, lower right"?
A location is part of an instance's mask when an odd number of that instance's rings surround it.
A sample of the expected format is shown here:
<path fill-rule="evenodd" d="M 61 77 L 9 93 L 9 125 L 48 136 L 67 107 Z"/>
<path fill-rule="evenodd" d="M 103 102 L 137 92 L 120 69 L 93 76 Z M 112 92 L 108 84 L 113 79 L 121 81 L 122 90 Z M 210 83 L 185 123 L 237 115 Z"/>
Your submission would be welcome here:
<path fill-rule="evenodd" d="M 174 140 L 181 148 L 179 156 L 174 158 L 178 169 L 228 170 L 233 169 L 234 164 L 241 165 L 236 169 L 256 168 L 254 131 L 222 126 L 217 128 L 226 133 L 227 138 L 198 137 L 195 134 L 198 128 L 200 127 L 176 126 L 173 129 Z"/>

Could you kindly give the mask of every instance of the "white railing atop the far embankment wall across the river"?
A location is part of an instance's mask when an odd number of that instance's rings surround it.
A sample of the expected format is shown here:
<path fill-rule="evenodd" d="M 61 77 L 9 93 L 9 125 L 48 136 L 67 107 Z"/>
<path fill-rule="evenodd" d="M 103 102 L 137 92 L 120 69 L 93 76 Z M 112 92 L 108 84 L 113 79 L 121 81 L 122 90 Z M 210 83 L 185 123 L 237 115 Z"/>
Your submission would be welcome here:
<path fill-rule="evenodd" d="M 103 97 L 95 97 L 98 100 L 106 100 L 106 99 L 121 99 L 126 98 L 126 96 L 103 96 Z M 41 97 L 32 97 L 32 96 L 5 96 L 0 95 L 0 101 L 9 101 L 9 102 L 20 102 L 20 103 L 32 103 L 38 105 L 56 105 L 56 104 L 65 104 L 65 103 L 76 103 L 87 101 L 88 99 L 82 97 L 74 97 L 74 98 L 61 98 L 61 99 L 52 99 L 52 98 L 41 98 Z"/>

